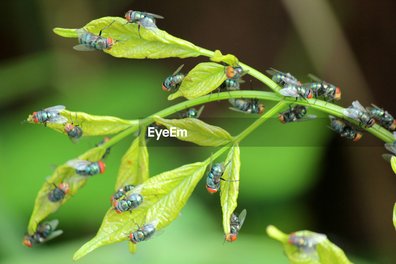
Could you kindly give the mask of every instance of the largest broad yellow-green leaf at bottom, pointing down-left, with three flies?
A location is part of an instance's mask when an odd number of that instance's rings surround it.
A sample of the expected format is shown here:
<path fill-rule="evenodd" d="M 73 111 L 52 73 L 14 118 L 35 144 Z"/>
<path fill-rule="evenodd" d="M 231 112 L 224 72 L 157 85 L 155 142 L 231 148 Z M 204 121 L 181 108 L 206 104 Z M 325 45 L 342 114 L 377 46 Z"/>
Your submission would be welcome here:
<path fill-rule="evenodd" d="M 168 226 L 179 216 L 180 210 L 204 175 L 208 163 L 209 161 L 184 165 L 149 178 L 143 183 L 140 194 L 150 201 L 150 206 L 121 214 L 108 210 L 97 235 L 78 249 L 73 260 L 78 260 L 102 245 L 128 240 L 128 234 L 137 230 L 133 221 L 142 226 L 159 218 L 158 229 Z"/>

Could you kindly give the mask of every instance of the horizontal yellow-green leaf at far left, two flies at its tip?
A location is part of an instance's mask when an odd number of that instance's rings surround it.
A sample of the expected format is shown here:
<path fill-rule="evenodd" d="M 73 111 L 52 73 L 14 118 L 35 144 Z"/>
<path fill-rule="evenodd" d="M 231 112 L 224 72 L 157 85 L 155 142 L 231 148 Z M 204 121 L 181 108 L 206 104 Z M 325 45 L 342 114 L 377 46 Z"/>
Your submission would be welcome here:
<path fill-rule="evenodd" d="M 76 126 L 80 123 L 84 134 L 89 136 L 103 136 L 109 134 L 116 134 L 122 130 L 125 130 L 133 125 L 137 125 L 136 120 L 124 120 L 118 117 L 108 117 L 100 115 L 89 115 L 83 112 L 71 112 L 69 110 L 63 110 L 59 115 L 66 117 L 70 120 L 70 116 L 73 124 Z M 77 121 L 78 122 L 77 122 Z M 32 115 L 29 115 L 28 122 L 32 122 Z M 35 124 L 32 122 L 32 124 Z M 42 123 L 37 123 L 41 124 Z M 53 128 L 55 131 L 66 134 L 64 132 L 65 126 L 57 123 L 47 123 L 47 126 Z M 67 134 L 66 134 L 67 135 Z"/>

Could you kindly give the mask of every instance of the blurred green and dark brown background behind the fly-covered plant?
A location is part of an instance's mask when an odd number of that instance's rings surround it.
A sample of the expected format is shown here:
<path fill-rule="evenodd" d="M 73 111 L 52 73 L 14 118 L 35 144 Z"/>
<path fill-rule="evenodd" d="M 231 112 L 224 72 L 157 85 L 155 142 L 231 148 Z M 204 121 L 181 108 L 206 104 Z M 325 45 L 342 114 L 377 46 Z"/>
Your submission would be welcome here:
<path fill-rule="evenodd" d="M 88 180 L 58 218 L 64 234 L 34 248 L 21 244 L 37 191 L 50 165 L 61 165 L 102 140 L 79 145 L 44 126 L 21 124 L 33 111 L 66 105 L 71 111 L 124 119 L 146 117 L 174 103 L 161 83 L 182 63 L 184 69 L 207 57 L 118 59 L 104 52 L 78 52 L 75 38 L 55 27 L 80 28 L 128 10 L 163 15 L 160 29 L 209 50 L 234 54 L 261 71 L 273 67 L 302 82 L 312 73 L 341 88 L 337 104 L 358 99 L 396 115 L 394 40 L 396 4 L 391 1 L 44 1 L 14 0 L 2 8 L 0 32 L 0 240 L 1 263 L 71 263 L 74 252 L 91 239 L 109 209 L 109 197 L 130 136 L 114 145 L 107 171 Z M 143 29 L 144 30 L 144 29 Z M 245 77 L 248 80 L 248 76 Z M 269 90 L 257 80 L 253 88 Z M 245 84 L 243 89 L 249 89 Z M 264 102 L 267 108 L 273 102 Z M 231 112 L 227 101 L 212 102 L 202 113 L 232 135 L 251 116 Z M 339 137 L 326 126 L 327 115 L 295 124 L 265 122 L 241 143 L 240 195 L 236 212 L 247 209 L 234 243 L 223 243 L 219 195 L 210 195 L 204 178 L 164 235 L 140 243 L 100 247 L 79 263 L 288 263 L 282 245 L 270 239 L 268 224 L 290 233 L 326 233 L 356 263 L 394 263 L 392 209 L 396 178 L 382 160 L 383 142 L 369 133 L 359 142 Z M 250 118 L 250 119 L 249 119 Z M 247 122 L 243 122 L 245 120 Z M 285 144 L 285 140 L 288 143 Z M 174 147 L 169 147 L 174 145 Z M 185 147 L 173 139 L 148 143 L 150 175 L 203 161 L 216 148 Z M 258 146 L 258 147 L 253 147 Z M 225 155 L 223 157 L 225 159 Z"/>

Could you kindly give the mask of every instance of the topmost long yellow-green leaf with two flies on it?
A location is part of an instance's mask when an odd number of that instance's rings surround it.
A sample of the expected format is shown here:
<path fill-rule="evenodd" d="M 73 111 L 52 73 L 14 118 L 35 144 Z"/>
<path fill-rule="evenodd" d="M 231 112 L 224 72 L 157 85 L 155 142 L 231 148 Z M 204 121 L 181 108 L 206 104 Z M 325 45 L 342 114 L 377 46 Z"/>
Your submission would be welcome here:
<path fill-rule="evenodd" d="M 99 31 L 107 27 L 112 21 L 114 23 L 109 28 L 103 30 L 102 36 L 121 40 L 120 42 L 116 42 L 110 50 L 104 50 L 104 52 L 114 57 L 161 59 L 168 57 L 186 58 L 201 55 L 201 48 L 162 30 L 154 33 L 140 27 L 140 38 L 138 25 L 136 23 L 124 25 L 127 23 L 127 20 L 121 17 L 102 17 L 95 19 L 84 26 L 84 28 L 93 34 L 99 34 Z M 55 28 L 53 32 L 69 38 L 78 37 L 76 29 Z M 77 44 L 78 42 L 76 42 Z"/>

